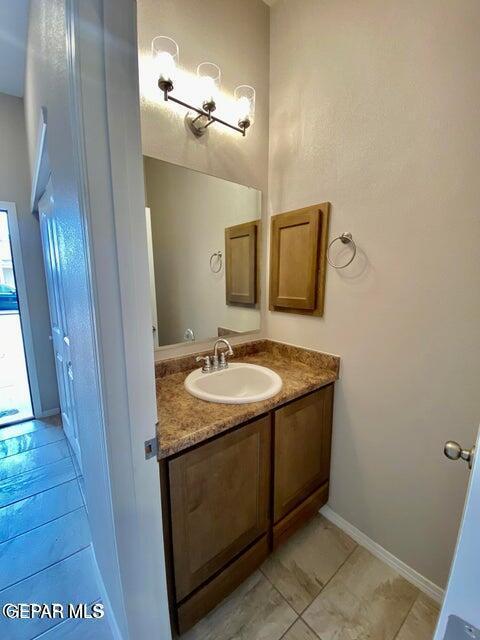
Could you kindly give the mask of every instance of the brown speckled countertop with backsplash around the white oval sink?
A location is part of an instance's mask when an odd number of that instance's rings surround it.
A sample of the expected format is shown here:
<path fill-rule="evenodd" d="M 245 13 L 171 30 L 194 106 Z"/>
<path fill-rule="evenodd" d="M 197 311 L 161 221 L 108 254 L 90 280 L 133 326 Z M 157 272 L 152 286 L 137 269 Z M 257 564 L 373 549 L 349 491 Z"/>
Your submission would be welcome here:
<path fill-rule="evenodd" d="M 167 458 L 260 416 L 275 407 L 338 379 L 340 359 L 270 340 L 234 347 L 232 362 L 269 367 L 282 378 L 281 391 L 261 402 L 219 404 L 190 395 L 184 387 L 189 371 L 198 367 L 194 354 L 157 363 L 158 457 Z"/>

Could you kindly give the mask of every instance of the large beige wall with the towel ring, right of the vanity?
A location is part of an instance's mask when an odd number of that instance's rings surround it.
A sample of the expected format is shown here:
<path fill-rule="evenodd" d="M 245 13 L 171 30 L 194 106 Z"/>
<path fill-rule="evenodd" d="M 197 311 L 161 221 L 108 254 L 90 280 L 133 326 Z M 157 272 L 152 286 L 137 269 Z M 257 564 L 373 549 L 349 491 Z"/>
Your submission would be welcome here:
<path fill-rule="evenodd" d="M 331 506 L 445 584 L 468 473 L 443 443 L 480 421 L 480 4 L 279 0 L 271 212 L 332 202 L 323 319 L 274 339 L 338 353 Z"/>

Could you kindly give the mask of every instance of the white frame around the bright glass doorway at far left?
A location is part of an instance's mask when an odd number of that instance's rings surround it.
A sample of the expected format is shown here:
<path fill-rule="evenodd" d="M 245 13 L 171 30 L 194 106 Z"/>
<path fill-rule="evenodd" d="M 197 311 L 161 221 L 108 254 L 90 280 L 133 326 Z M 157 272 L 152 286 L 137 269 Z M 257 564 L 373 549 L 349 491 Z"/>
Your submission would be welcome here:
<path fill-rule="evenodd" d="M 46 417 L 42 410 L 42 400 L 37 378 L 37 362 L 33 348 L 32 325 L 30 321 L 30 309 L 28 306 L 27 285 L 23 269 L 22 245 L 18 228 L 17 208 L 14 202 L 0 201 L 0 210 L 7 212 L 8 229 L 10 232 L 10 246 L 12 248 L 13 268 L 17 285 L 18 306 L 22 326 L 23 344 L 25 347 L 25 360 L 27 364 L 28 380 L 30 384 L 30 397 L 32 399 L 33 415 L 36 418 Z M 54 411 L 57 412 L 56 410 Z"/>

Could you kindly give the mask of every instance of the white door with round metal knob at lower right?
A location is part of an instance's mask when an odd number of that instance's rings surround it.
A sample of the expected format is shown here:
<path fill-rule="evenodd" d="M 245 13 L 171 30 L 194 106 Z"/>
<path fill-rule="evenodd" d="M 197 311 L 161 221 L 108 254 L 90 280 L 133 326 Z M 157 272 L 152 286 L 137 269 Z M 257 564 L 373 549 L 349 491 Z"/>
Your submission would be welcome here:
<path fill-rule="evenodd" d="M 461 451 L 452 444 L 449 452 L 458 464 L 473 458 L 473 466 L 434 640 L 480 640 L 480 429 L 473 450 Z"/>

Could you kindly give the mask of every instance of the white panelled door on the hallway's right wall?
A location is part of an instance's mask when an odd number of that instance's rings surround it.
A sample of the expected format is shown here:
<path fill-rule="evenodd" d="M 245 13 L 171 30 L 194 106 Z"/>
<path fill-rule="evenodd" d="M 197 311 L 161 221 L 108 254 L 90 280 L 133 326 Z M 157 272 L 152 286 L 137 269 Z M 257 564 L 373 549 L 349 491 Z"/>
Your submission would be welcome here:
<path fill-rule="evenodd" d="M 58 227 L 55 219 L 54 196 L 51 180 L 38 203 L 40 233 L 42 237 L 43 261 L 47 281 L 48 306 L 52 327 L 52 342 L 57 370 L 58 395 L 65 435 L 81 468 L 78 443 L 77 420 L 73 391 L 73 369 L 70 358 L 70 338 L 65 312 L 62 284 L 62 264 L 58 244 Z"/>

